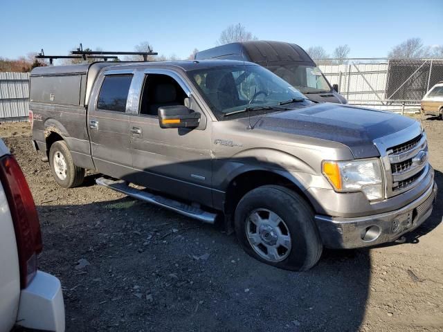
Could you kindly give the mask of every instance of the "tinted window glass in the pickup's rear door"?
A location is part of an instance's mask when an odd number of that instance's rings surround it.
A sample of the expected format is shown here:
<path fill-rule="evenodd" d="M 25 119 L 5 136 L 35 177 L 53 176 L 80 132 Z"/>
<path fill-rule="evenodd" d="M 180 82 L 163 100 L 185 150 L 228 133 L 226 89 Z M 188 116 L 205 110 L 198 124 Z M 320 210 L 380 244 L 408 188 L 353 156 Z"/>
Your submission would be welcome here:
<path fill-rule="evenodd" d="M 97 108 L 105 111 L 125 112 L 131 81 L 132 74 L 106 75 L 98 95 Z"/>

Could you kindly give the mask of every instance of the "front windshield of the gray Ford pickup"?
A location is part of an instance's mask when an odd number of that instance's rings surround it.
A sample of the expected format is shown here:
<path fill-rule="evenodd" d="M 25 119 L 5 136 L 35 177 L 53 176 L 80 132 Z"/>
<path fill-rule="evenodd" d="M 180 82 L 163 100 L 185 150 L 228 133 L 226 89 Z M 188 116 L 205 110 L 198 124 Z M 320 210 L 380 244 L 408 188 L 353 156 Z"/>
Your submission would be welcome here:
<path fill-rule="evenodd" d="M 220 66 L 189 71 L 188 75 L 216 115 L 228 115 L 246 107 L 278 107 L 280 102 L 305 99 L 262 66 Z"/>

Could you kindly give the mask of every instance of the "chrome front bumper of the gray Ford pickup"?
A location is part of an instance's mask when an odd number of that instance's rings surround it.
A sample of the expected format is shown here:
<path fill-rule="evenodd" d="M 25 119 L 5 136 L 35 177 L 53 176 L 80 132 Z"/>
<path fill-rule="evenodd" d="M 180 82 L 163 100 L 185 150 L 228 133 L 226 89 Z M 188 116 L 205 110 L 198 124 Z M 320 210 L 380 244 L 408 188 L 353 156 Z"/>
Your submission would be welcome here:
<path fill-rule="evenodd" d="M 422 196 L 399 210 L 356 218 L 316 215 L 316 224 L 327 248 L 375 246 L 419 227 L 431 215 L 436 197 L 437 184 L 433 182 Z"/>

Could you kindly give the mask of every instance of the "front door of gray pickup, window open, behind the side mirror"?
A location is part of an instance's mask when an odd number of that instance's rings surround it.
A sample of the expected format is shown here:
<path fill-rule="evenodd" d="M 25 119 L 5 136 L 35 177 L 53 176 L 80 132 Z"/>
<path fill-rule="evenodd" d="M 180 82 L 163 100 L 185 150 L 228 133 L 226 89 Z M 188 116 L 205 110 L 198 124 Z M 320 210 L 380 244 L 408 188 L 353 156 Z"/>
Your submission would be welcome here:
<path fill-rule="evenodd" d="M 206 116 L 194 101 L 189 104 L 190 89 L 177 73 L 146 70 L 136 80 L 143 82 L 137 112 L 131 116 L 129 131 L 132 165 L 138 183 L 172 196 L 212 205 L 210 127 L 197 129 L 161 129 L 158 109 L 186 104 Z M 135 106 L 135 103 L 134 103 Z"/>

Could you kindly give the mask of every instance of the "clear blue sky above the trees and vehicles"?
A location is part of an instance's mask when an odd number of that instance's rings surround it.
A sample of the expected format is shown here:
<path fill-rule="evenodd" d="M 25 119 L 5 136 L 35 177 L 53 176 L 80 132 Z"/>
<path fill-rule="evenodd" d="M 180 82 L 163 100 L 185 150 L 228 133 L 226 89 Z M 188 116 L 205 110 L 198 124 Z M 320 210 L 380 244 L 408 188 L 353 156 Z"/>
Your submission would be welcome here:
<path fill-rule="evenodd" d="M 351 57 L 384 57 L 409 37 L 443 45 L 443 0 L 422 1 L 20 1 L 2 0 L 0 57 L 44 48 L 66 54 L 82 42 L 134 50 L 149 41 L 187 57 L 215 46 L 221 30 L 241 23 L 259 39 L 323 46 L 348 44 Z"/>

